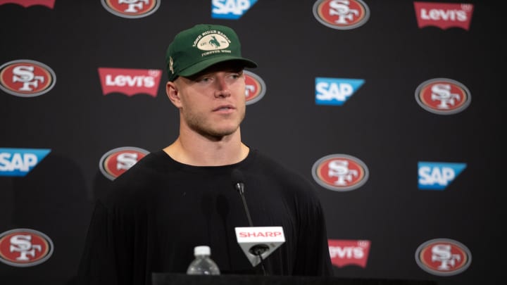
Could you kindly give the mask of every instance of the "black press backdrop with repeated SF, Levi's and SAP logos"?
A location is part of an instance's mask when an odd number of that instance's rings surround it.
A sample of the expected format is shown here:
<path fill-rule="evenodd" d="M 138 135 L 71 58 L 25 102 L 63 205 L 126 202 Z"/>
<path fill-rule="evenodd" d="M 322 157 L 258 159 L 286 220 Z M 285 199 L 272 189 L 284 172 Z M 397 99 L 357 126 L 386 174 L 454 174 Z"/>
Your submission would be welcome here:
<path fill-rule="evenodd" d="M 337 277 L 500 284 L 502 17 L 478 0 L 0 0 L 0 284 L 75 281 L 96 195 L 177 137 L 165 49 L 196 23 L 233 27 L 258 63 L 243 139 L 314 182 Z"/>

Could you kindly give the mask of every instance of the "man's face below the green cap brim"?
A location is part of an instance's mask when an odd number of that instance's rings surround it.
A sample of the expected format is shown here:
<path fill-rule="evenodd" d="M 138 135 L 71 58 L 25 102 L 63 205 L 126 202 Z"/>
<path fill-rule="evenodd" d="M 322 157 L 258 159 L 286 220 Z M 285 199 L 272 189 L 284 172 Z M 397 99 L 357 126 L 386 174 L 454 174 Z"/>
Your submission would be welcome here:
<path fill-rule="evenodd" d="M 188 129 L 221 139 L 239 129 L 245 116 L 245 77 L 242 67 L 218 63 L 174 82 L 181 120 Z"/>

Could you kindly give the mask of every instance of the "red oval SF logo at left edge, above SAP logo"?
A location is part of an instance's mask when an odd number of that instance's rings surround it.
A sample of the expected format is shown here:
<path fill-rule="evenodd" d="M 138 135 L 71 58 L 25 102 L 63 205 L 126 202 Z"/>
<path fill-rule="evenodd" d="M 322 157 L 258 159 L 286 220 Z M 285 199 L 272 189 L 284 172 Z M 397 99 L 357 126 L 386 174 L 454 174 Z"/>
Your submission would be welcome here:
<path fill-rule="evenodd" d="M 53 89 L 56 75 L 49 66 L 22 59 L 0 66 L 0 89 L 20 97 L 40 96 Z"/>

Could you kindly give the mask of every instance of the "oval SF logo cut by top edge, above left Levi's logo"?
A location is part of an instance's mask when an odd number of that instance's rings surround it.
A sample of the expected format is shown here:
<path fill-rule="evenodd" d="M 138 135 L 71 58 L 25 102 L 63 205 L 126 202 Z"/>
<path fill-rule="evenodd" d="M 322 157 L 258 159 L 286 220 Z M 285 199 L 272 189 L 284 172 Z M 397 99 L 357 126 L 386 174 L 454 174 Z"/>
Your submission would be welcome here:
<path fill-rule="evenodd" d="M 149 16 L 161 4 L 161 0 L 101 0 L 109 13 L 122 18 L 143 18 Z"/>

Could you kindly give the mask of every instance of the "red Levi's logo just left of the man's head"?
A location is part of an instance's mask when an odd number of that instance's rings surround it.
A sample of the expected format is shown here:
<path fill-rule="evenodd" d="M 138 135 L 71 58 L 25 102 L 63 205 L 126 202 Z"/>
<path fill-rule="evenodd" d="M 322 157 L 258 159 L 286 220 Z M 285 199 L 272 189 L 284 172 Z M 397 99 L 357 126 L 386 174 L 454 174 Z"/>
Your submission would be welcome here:
<path fill-rule="evenodd" d="M 102 93 L 118 92 L 127 96 L 149 94 L 156 97 L 162 70 L 99 68 Z"/>

